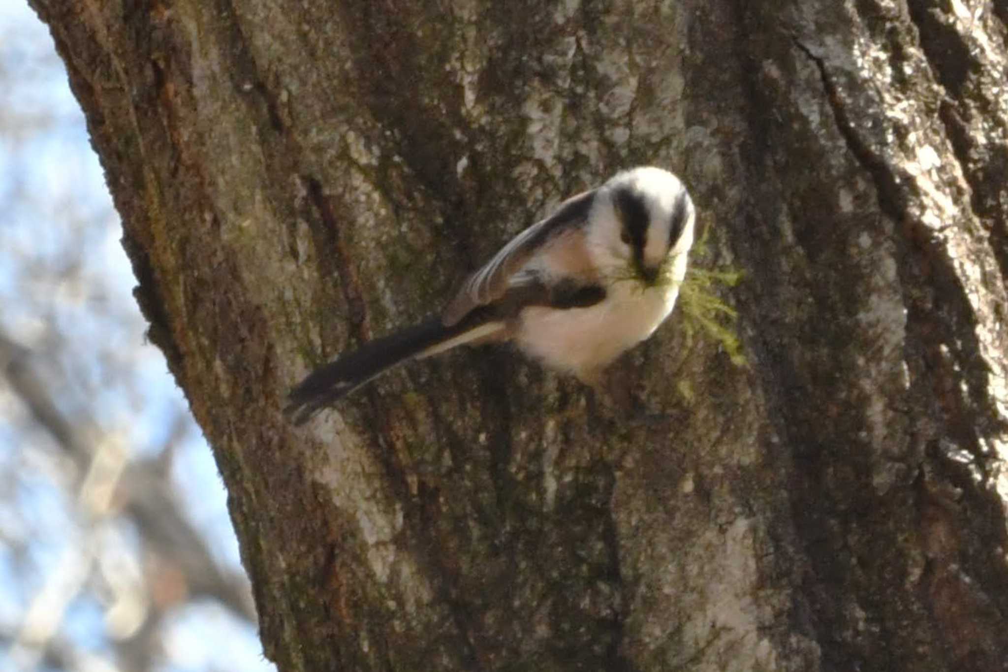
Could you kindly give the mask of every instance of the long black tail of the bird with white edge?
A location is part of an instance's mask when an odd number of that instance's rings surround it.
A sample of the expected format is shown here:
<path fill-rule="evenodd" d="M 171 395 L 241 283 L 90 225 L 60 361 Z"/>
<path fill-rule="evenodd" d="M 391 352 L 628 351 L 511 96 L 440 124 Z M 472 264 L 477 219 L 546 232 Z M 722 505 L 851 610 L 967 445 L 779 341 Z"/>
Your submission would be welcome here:
<path fill-rule="evenodd" d="M 494 330 L 493 324 L 486 320 L 466 319 L 463 322 L 446 327 L 439 317 L 428 317 L 415 326 L 369 341 L 308 374 L 287 395 L 288 403 L 283 412 L 294 424 L 303 424 L 322 409 L 397 364 L 454 348 Z"/>

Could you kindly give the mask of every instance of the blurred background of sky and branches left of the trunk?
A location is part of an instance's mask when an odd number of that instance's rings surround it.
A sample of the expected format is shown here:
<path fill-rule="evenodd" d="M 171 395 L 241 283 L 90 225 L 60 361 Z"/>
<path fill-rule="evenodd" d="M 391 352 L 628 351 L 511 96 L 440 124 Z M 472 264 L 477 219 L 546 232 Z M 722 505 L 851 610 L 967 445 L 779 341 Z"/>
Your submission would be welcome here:
<path fill-rule="evenodd" d="M 0 0 L 0 670 L 269 670 L 48 31 Z"/>

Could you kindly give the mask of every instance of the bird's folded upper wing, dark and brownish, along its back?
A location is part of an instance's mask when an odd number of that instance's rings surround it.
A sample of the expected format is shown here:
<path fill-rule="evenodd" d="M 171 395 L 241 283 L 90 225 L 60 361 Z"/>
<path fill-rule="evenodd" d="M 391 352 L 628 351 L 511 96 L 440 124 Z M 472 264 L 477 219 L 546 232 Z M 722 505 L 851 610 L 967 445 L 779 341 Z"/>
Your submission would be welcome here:
<path fill-rule="evenodd" d="M 511 277 L 528 263 L 541 245 L 557 232 L 588 220 L 595 190 L 568 198 L 556 212 L 511 239 L 494 257 L 463 283 L 442 312 L 442 322 L 452 326 L 473 308 L 487 305 L 504 295 Z"/>

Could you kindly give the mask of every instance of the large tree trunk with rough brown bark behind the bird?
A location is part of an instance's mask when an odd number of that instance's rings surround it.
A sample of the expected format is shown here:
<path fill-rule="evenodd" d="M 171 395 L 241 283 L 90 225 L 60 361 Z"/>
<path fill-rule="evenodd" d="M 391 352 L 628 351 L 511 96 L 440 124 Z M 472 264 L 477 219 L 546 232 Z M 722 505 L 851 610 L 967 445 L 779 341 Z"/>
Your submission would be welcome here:
<path fill-rule="evenodd" d="M 33 4 L 282 670 L 1008 670 L 1004 1 Z M 283 421 L 637 163 L 747 274 L 670 430 L 489 348 Z"/>

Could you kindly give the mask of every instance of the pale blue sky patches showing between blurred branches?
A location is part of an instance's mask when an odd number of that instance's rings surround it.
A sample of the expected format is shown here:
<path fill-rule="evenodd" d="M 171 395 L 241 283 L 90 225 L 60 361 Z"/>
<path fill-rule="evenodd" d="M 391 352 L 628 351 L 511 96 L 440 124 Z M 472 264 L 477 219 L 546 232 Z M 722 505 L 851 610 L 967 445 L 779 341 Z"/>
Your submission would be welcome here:
<path fill-rule="evenodd" d="M 187 409 L 160 353 L 144 340 L 120 236 L 48 30 L 21 0 L 0 0 L 0 332 L 33 352 L 56 353 L 49 374 L 59 375 L 53 385 L 60 410 L 92 418 L 132 454 L 149 456 Z M 58 450 L 31 426 L 22 406 L 0 377 L 4 633 L 18 630 L 27 606 L 82 537 Z M 236 567 L 224 488 L 202 433 L 191 419 L 186 423 L 172 479 L 218 559 Z M 127 551 L 136 550 L 128 526 L 110 525 L 109 533 Z M 24 553 L 6 544 L 11 535 L 28 540 Z M 128 559 L 123 562 L 128 567 Z M 114 663 L 106 607 L 83 589 L 59 633 L 96 661 Z M 159 669 L 272 669 L 253 628 L 215 604 L 176 610 L 163 644 Z M 0 640 L 0 671 L 15 669 L 2 647 Z"/>

